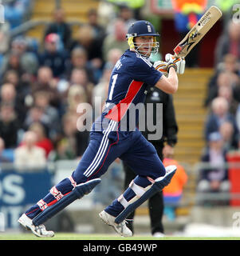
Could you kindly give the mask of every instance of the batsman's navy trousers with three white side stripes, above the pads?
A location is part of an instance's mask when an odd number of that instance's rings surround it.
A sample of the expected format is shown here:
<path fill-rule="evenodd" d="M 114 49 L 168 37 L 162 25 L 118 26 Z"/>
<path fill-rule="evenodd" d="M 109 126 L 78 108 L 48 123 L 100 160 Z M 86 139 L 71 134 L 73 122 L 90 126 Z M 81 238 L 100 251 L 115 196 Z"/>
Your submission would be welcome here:
<path fill-rule="evenodd" d="M 79 184 L 99 178 L 116 158 L 128 162 L 128 166 L 141 176 L 155 179 L 165 174 L 155 147 L 139 130 L 111 131 L 108 137 L 101 132 L 92 132 L 89 146 L 73 172 L 73 179 Z"/>

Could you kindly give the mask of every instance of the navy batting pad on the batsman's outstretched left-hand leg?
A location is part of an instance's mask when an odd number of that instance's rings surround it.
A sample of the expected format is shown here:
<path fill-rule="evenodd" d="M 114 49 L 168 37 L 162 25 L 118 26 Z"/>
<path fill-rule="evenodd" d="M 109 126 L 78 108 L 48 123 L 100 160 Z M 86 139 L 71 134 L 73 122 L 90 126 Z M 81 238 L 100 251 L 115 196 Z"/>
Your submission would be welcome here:
<path fill-rule="evenodd" d="M 94 187 L 100 183 L 100 178 L 92 179 L 89 182 L 82 183 L 77 185 L 69 194 L 66 194 L 63 198 L 57 201 L 53 206 L 47 207 L 35 218 L 33 218 L 33 225 L 39 226 L 49 218 L 52 218 L 55 214 L 63 210 L 66 206 L 69 206 L 70 203 L 74 202 L 77 199 L 82 198 L 85 194 L 89 194 Z"/>

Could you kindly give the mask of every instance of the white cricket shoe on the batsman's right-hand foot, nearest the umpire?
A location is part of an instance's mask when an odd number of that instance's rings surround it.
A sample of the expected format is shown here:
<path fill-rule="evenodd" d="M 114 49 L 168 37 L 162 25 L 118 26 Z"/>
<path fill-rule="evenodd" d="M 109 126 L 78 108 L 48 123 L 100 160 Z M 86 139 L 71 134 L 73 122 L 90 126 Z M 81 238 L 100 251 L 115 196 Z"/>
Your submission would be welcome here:
<path fill-rule="evenodd" d="M 120 234 L 123 237 L 132 237 L 132 231 L 128 229 L 128 226 L 126 226 L 126 221 L 120 222 L 119 224 L 116 224 L 115 217 L 108 214 L 104 210 L 102 210 L 99 214 L 101 220 L 108 224 L 109 226 L 112 226 L 116 233 Z"/>

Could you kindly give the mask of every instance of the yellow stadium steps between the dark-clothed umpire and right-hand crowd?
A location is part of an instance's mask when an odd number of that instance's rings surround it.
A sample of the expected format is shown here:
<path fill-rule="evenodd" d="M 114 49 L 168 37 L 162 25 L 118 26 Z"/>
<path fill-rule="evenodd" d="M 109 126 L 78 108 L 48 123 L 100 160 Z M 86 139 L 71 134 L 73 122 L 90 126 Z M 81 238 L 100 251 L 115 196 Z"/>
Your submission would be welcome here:
<path fill-rule="evenodd" d="M 176 118 L 179 125 L 179 142 L 175 147 L 175 158 L 179 162 L 199 162 L 203 150 L 203 127 L 207 109 L 203 101 L 207 93 L 207 82 L 211 69 L 187 69 L 179 75 L 179 90 L 174 95 Z"/>

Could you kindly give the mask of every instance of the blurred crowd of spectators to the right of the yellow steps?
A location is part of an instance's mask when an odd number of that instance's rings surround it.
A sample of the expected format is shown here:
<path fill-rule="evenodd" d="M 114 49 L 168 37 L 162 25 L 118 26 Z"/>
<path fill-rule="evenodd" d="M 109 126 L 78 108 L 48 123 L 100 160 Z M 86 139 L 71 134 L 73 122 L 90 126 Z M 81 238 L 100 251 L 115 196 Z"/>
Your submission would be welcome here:
<path fill-rule="evenodd" d="M 197 190 L 228 193 L 231 184 L 227 154 L 240 149 L 240 23 L 231 19 L 218 38 L 214 74 L 207 85 L 204 105 L 208 110 L 206 145 L 200 161 L 207 166 L 200 170 Z M 221 198 L 213 201 L 221 203 Z M 209 200 L 203 195 L 205 202 Z"/>

